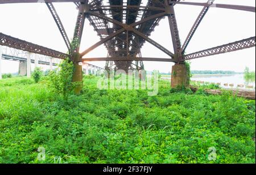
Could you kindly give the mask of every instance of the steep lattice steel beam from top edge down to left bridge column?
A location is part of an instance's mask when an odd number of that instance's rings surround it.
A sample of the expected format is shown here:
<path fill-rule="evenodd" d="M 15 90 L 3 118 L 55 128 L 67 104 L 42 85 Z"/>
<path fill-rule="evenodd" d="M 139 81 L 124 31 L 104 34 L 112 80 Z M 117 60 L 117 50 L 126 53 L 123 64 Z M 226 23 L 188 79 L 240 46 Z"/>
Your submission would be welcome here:
<path fill-rule="evenodd" d="M 61 36 L 63 37 L 65 44 L 67 45 L 67 48 L 69 50 L 69 53 L 71 53 L 71 44 L 70 41 L 68 39 L 68 35 L 63 27 L 63 24 L 61 23 L 60 17 L 57 14 L 54 6 L 52 3 L 46 3 L 47 7 L 49 8 L 49 11 L 52 14 L 53 19 L 55 20 L 55 23 L 57 24 L 57 27 L 59 28 L 59 31 L 61 33 Z"/>

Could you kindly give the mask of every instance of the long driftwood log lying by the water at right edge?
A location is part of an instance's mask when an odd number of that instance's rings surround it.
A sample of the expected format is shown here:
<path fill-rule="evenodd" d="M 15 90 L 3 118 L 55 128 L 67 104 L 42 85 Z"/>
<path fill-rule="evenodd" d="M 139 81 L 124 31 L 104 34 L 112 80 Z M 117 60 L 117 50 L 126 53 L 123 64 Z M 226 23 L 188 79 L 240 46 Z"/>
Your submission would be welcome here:
<path fill-rule="evenodd" d="M 197 87 L 190 86 L 193 92 L 198 91 Z M 212 95 L 221 95 L 224 91 L 230 91 L 233 95 L 244 97 L 246 99 L 255 100 L 255 91 L 246 89 L 204 89 L 205 92 Z"/>

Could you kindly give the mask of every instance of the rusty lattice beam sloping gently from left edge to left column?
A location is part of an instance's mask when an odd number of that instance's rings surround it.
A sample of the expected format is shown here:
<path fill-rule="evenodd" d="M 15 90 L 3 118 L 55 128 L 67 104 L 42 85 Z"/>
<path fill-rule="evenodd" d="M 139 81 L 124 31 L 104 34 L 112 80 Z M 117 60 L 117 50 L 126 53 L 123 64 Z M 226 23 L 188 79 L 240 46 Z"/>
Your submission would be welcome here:
<path fill-rule="evenodd" d="M 3 33 L 0 33 L 0 45 L 8 46 L 10 48 L 15 48 L 19 50 L 24 50 L 31 53 L 38 53 L 53 58 L 65 59 L 68 57 L 68 54 L 61 53 L 59 51 L 49 49 L 44 46 L 36 45 L 31 42 L 16 39 L 15 37 L 11 37 Z"/>

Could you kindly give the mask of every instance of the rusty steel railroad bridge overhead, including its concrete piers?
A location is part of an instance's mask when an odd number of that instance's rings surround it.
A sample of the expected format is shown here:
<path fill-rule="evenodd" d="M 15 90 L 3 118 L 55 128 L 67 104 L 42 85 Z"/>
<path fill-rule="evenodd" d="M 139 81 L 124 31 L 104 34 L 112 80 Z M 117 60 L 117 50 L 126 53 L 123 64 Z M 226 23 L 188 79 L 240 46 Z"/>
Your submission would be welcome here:
<path fill-rule="evenodd" d="M 0 0 L 0 3 L 36 2 L 38 2 L 38 0 Z M 59 15 L 53 6 L 53 3 L 55 2 L 73 2 L 74 7 L 77 7 L 78 9 L 72 42 L 69 41 Z M 187 74 L 184 65 L 185 61 L 234 52 L 236 50 L 255 46 L 254 36 L 248 39 L 216 46 L 214 48 L 185 54 L 189 42 L 204 19 L 204 16 L 207 15 L 209 8 L 226 8 L 255 13 L 255 7 L 218 4 L 214 3 L 214 0 L 205 0 L 204 3 L 185 2 L 181 0 L 149 0 L 145 6 L 142 5 L 142 0 L 45 0 L 44 3 L 46 3 L 49 12 L 51 12 L 52 17 L 59 28 L 60 34 L 67 45 L 68 54 L 32 44 L 31 42 L 19 40 L 11 36 L 6 36 L 3 33 L 0 33 L 0 45 L 6 45 L 54 58 L 65 59 L 68 57 L 76 64 L 74 73 L 75 81 L 81 81 L 81 67 L 78 63 L 83 61 L 106 61 L 105 69 L 122 69 L 125 71 L 129 69 L 144 69 L 143 61 L 163 61 L 175 62 L 175 65 L 172 67 L 172 72 L 175 71 L 176 74 L 175 76 L 172 74 L 171 86 L 175 87 L 179 84 L 187 85 Z M 180 5 L 202 7 L 185 42 L 182 44 L 180 42 L 175 15 L 175 6 Z M 174 46 L 173 53 L 170 51 L 170 48 L 164 48 L 164 46 L 160 45 L 158 42 L 150 39 L 151 33 L 154 32 L 155 27 L 165 16 L 167 16 L 168 23 L 170 24 L 170 32 L 172 36 L 170 40 Z M 89 20 L 101 40 L 79 53 L 85 18 Z M 141 48 L 146 41 L 162 50 L 162 52 L 166 53 L 169 58 L 142 57 Z M 108 56 L 105 58 L 86 58 L 86 54 L 102 44 L 108 49 Z"/>

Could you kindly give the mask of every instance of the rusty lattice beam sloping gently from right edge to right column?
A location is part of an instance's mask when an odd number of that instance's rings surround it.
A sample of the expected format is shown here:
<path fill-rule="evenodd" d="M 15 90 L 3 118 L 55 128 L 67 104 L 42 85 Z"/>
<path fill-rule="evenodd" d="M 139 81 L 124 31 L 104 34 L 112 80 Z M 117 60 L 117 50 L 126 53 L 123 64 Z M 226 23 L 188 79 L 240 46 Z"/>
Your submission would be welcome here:
<path fill-rule="evenodd" d="M 184 61 L 255 47 L 255 36 L 183 56 Z"/>

